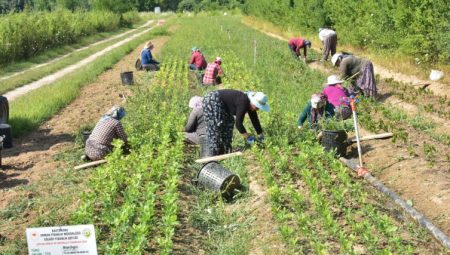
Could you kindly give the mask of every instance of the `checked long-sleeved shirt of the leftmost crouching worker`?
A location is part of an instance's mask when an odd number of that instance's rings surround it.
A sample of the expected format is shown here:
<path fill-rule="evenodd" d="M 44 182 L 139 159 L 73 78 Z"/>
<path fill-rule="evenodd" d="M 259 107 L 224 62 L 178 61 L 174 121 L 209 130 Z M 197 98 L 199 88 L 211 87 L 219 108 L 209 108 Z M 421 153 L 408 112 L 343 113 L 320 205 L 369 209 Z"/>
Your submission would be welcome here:
<path fill-rule="evenodd" d="M 114 118 L 100 120 L 89 136 L 89 140 L 108 147 L 112 147 L 111 143 L 114 139 L 121 139 L 127 142 L 127 135 L 123 130 L 122 124 Z"/>

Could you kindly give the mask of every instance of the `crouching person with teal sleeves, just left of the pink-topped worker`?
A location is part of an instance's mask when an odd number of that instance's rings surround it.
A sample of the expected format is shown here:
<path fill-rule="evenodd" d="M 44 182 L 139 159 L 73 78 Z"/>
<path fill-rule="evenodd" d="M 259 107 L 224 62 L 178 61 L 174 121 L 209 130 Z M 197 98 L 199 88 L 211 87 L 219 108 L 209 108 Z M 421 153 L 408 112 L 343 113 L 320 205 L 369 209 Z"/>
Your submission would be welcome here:
<path fill-rule="evenodd" d="M 311 128 L 317 128 L 319 120 L 322 117 L 330 118 L 334 115 L 334 107 L 327 102 L 327 98 L 324 94 L 313 94 L 311 100 L 306 104 L 303 112 L 298 118 L 298 128 L 303 127 L 303 123 L 308 119 Z"/>

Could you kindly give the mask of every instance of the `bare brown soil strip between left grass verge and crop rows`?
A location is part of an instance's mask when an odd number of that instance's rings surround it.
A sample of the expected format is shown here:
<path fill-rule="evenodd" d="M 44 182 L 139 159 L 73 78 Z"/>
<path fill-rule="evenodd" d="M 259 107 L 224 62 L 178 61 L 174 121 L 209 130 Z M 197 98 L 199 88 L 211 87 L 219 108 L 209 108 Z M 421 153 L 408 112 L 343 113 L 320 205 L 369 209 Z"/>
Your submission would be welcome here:
<path fill-rule="evenodd" d="M 152 40 L 155 53 L 167 38 Z M 14 187 L 39 180 L 44 174 L 57 170 L 53 156 L 74 146 L 74 134 L 86 124 L 95 124 L 99 117 L 114 104 L 121 103 L 119 93 L 129 95 L 121 84 L 119 73 L 123 68 L 134 69 L 141 46 L 125 56 L 114 67 L 101 74 L 97 81 L 85 86 L 80 96 L 42 124 L 31 134 L 14 140 L 12 149 L 3 150 L 3 170 L 0 170 L 0 210 L 17 196 Z M 137 78 L 142 73 L 136 73 Z"/>

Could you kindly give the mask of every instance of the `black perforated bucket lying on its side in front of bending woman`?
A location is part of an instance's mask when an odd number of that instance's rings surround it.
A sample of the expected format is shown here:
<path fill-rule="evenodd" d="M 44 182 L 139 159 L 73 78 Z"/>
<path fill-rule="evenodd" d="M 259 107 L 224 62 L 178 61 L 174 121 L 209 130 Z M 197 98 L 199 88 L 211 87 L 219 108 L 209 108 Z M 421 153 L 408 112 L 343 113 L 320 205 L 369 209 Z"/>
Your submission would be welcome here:
<path fill-rule="evenodd" d="M 209 190 L 229 196 L 241 186 L 237 175 L 226 169 L 216 161 L 202 166 L 197 174 L 197 184 Z"/>

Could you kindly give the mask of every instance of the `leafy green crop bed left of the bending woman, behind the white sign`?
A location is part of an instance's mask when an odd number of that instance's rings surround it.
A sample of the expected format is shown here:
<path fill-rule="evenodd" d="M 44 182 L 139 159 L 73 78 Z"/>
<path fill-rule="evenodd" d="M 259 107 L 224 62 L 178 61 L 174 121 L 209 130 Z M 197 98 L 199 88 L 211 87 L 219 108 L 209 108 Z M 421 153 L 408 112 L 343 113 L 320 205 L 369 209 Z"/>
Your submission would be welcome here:
<path fill-rule="evenodd" d="M 158 75 L 135 88 L 125 127 L 132 147 L 121 144 L 96 170 L 73 223 L 93 223 L 105 254 L 170 254 L 177 224 L 177 186 L 183 161 L 181 102 L 187 69 L 166 61 Z"/>

